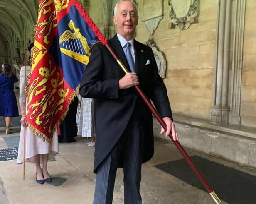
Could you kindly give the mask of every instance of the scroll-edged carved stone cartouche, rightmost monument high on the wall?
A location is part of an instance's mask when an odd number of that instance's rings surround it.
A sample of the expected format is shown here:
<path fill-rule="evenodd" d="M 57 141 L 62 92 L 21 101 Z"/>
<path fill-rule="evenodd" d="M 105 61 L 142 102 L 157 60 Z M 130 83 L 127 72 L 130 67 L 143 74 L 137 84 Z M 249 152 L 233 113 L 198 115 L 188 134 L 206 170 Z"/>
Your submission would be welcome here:
<path fill-rule="evenodd" d="M 186 30 L 191 23 L 197 23 L 199 14 L 199 0 L 169 0 L 169 28 L 177 25 Z"/>

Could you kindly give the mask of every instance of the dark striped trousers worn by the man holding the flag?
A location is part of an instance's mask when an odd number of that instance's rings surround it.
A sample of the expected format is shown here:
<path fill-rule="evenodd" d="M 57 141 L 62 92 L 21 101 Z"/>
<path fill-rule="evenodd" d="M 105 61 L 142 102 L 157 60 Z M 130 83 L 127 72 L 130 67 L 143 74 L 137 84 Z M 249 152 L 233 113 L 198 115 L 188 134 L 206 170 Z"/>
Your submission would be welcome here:
<path fill-rule="evenodd" d="M 111 204 L 118 160 L 123 158 L 124 203 L 141 204 L 140 181 L 143 129 L 130 120 L 122 136 L 97 169 L 94 204 Z"/>

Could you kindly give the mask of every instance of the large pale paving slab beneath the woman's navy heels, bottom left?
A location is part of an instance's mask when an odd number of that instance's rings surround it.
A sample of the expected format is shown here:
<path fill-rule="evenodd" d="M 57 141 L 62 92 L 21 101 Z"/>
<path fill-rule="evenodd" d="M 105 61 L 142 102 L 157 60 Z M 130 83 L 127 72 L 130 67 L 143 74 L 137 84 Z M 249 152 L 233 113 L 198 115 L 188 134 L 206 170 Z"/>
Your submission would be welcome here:
<path fill-rule="evenodd" d="M 61 156 L 49 162 L 52 177 L 66 178 L 61 186 L 35 182 L 35 165 L 26 163 L 25 180 L 22 180 L 22 165 L 16 160 L 0 162 L 0 174 L 10 204 L 91 204 L 94 182 Z"/>

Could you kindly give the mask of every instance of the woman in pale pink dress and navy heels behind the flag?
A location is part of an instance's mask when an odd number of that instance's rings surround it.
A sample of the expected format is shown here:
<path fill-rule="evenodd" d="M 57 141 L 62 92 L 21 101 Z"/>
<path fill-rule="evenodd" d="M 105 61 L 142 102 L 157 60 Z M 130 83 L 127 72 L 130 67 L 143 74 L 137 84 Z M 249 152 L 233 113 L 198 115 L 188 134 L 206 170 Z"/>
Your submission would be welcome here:
<path fill-rule="evenodd" d="M 26 66 L 26 79 L 29 77 L 31 71 L 30 66 Z M 23 138 L 24 131 L 26 131 L 26 161 L 35 163 L 36 166 L 36 181 L 40 184 L 44 182 L 52 182 L 47 170 L 48 159 L 55 156 L 58 151 L 58 135 L 57 128 L 53 134 L 51 144 L 44 142 L 41 138 L 34 135 L 34 133 L 25 125 L 25 67 L 20 70 L 20 109 L 21 109 L 21 130 L 20 130 L 20 143 L 18 151 L 17 163 L 23 162 Z M 42 168 L 40 165 L 42 160 Z"/>

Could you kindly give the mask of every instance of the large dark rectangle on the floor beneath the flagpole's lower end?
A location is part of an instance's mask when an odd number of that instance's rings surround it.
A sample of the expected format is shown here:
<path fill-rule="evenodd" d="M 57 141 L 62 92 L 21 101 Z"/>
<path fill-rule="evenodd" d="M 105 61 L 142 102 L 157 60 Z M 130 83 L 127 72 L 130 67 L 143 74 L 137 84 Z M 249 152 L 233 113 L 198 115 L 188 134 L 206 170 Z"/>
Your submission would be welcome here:
<path fill-rule="evenodd" d="M 255 176 L 199 156 L 192 156 L 191 159 L 220 199 L 230 204 L 256 203 Z M 156 167 L 206 191 L 184 159 L 163 163 Z"/>

